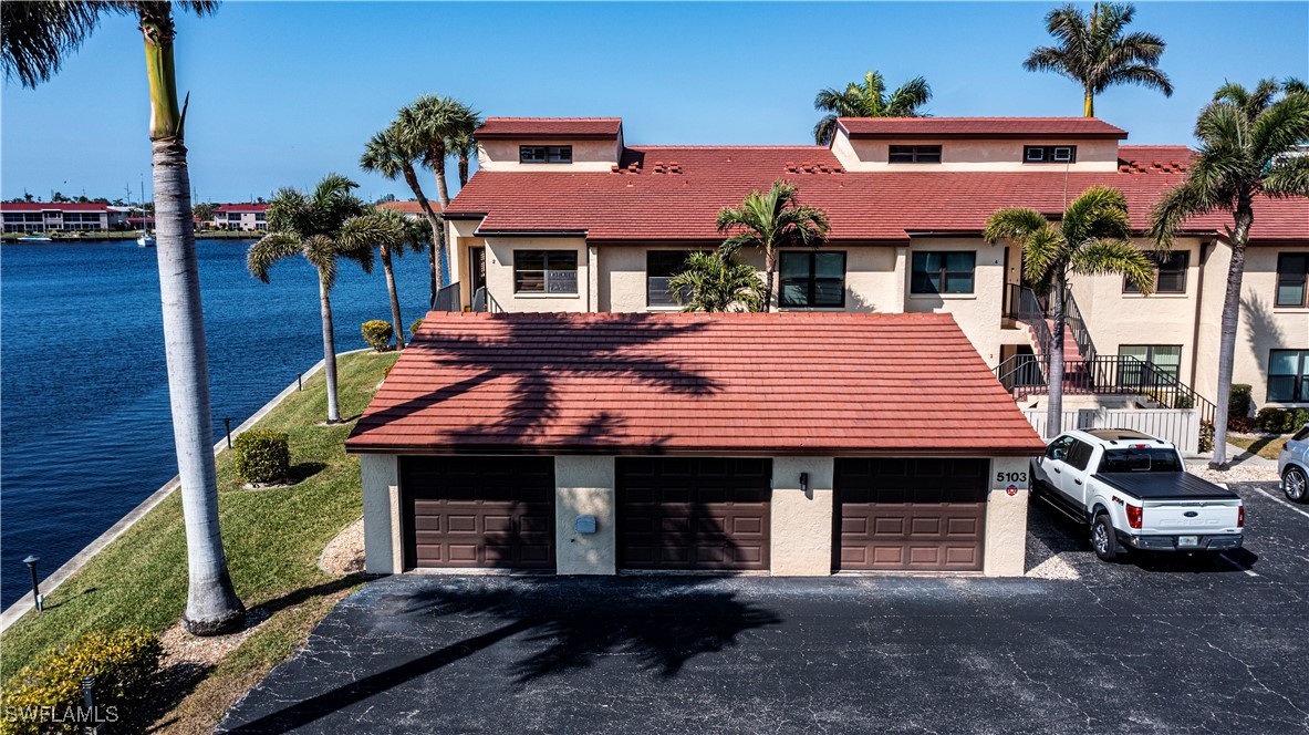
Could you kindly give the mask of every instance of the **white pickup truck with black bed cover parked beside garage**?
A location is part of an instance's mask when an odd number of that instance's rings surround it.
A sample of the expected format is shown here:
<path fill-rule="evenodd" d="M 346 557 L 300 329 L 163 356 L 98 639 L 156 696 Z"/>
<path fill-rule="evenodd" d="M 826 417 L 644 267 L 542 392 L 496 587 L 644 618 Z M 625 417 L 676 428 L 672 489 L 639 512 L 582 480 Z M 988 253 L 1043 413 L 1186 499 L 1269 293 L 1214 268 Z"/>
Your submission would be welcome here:
<path fill-rule="evenodd" d="M 1177 447 L 1139 431 L 1068 431 L 1031 461 L 1035 491 L 1090 528 L 1096 556 L 1127 549 L 1216 554 L 1238 549 L 1245 506 L 1186 472 Z"/>

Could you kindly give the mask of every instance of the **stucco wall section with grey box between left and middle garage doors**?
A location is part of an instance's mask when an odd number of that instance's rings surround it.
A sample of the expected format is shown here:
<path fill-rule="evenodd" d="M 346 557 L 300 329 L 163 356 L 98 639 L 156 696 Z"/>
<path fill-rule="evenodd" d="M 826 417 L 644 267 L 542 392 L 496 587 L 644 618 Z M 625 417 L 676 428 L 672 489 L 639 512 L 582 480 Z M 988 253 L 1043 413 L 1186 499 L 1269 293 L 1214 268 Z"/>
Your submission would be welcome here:
<path fill-rule="evenodd" d="M 596 533 L 577 533 L 580 515 Z M 555 457 L 555 563 L 558 574 L 615 574 L 614 457 Z"/>

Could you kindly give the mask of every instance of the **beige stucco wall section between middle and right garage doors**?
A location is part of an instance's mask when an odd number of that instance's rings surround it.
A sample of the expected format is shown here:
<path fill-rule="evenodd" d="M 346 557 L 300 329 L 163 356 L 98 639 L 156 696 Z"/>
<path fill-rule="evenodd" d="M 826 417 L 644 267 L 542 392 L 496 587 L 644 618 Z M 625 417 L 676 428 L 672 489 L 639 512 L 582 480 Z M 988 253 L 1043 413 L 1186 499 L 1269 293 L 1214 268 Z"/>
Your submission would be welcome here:
<path fill-rule="evenodd" d="M 833 457 L 772 460 L 770 557 L 774 576 L 831 574 Z M 809 491 L 800 489 L 809 474 Z"/>

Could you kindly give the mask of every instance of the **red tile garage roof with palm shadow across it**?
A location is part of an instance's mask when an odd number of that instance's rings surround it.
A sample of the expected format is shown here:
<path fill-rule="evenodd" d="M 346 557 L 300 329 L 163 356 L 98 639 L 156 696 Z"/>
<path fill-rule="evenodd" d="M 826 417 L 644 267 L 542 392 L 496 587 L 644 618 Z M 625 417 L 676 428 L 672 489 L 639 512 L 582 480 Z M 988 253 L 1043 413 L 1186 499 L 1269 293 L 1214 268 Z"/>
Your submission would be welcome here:
<path fill-rule="evenodd" d="M 950 314 L 427 314 L 353 452 L 1034 455 Z"/>

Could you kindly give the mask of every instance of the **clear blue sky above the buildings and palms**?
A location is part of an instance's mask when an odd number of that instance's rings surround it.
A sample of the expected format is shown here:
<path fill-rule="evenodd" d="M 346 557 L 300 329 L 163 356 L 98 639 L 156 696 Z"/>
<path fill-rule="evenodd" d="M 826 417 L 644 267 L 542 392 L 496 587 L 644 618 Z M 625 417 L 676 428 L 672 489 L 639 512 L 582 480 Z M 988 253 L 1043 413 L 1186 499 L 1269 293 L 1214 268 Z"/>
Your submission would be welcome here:
<path fill-rule="evenodd" d="M 487 115 L 619 115 L 634 144 L 808 143 L 814 93 L 869 68 L 893 84 L 925 76 L 936 115 L 1077 115 L 1076 84 L 1021 68 L 1047 42 L 1054 4 L 229 0 L 179 21 L 191 179 L 200 199 L 245 200 L 338 170 L 364 195 L 408 198 L 357 159 L 421 93 Z M 1097 101 L 1128 143 L 1191 141 L 1224 80 L 1309 77 L 1309 3 L 1139 3 L 1134 28 L 1168 41 L 1177 92 L 1118 88 Z M 148 118 L 140 35 L 111 18 L 51 83 L 5 85 L 0 195 L 135 193 Z"/>

